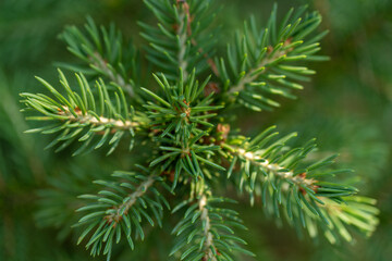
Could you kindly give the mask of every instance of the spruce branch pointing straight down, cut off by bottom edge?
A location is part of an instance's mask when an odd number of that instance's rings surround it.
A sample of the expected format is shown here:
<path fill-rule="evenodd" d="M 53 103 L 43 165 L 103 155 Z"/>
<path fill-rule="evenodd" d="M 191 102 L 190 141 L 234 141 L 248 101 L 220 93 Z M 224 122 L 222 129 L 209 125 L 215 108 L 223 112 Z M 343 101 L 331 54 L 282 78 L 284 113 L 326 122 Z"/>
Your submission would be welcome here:
<path fill-rule="evenodd" d="M 186 200 L 175 207 L 172 213 L 191 203 L 183 220 L 173 228 L 177 236 L 170 256 L 180 260 L 234 260 L 233 253 L 254 256 L 244 249 L 246 241 L 234 235 L 232 227 L 246 229 L 237 213 L 230 209 L 215 207 L 217 203 L 235 202 L 216 198 L 201 188 L 196 200 Z"/>

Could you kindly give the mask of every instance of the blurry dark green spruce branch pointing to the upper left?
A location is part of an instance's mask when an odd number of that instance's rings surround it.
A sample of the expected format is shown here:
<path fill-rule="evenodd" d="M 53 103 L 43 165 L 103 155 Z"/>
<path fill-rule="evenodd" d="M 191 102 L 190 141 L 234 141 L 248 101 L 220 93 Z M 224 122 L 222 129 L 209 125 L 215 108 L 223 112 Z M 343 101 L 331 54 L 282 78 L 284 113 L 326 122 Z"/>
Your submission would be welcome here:
<path fill-rule="evenodd" d="M 83 62 L 76 66 L 64 63 L 60 65 L 95 77 L 105 76 L 135 98 L 136 83 L 139 79 L 135 47 L 123 41 L 114 25 L 109 29 L 103 26 L 98 28 L 91 17 L 87 17 L 85 30 L 69 26 L 60 35 L 66 42 L 68 50 Z"/>

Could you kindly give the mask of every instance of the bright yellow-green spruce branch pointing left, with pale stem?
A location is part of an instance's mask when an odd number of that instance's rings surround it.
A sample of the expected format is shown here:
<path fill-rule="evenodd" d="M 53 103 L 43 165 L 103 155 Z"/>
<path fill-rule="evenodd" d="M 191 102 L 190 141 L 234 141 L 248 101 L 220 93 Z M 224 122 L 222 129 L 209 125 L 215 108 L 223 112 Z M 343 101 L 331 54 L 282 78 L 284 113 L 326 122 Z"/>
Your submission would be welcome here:
<path fill-rule="evenodd" d="M 28 120 L 35 121 L 51 121 L 54 124 L 27 130 L 28 133 L 40 132 L 42 134 L 60 135 L 53 139 L 47 148 L 51 148 L 60 142 L 57 151 L 65 149 L 74 140 L 83 142 L 74 156 L 87 151 L 88 148 L 98 149 L 105 142 L 109 142 L 111 148 L 108 152 L 110 154 L 114 151 L 124 134 L 131 135 L 131 147 L 133 145 L 133 137 L 135 129 L 142 127 L 143 123 L 134 121 L 137 119 L 133 110 L 128 109 L 128 104 L 121 88 L 114 91 L 117 105 L 112 104 L 112 99 L 109 96 L 108 88 L 102 80 L 97 82 L 97 95 L 93 90 L 83 74 L 76 74 L 76 79 L 81 92 L 72 90 L 64 74 L 59 71 L 60 83 L 63 86 L 68 97 L 61 95 L 53 86 L 46 80 L 37 77 L 37 79 L 56 97 L 56 100 L 49 96 L 38 94 L 22 94 L 22 100 L 26 105 L 26 110 L 35 110 L 42 116 L 30 116 Z M 132 108 L 131 108 L 132 109 Z M 139 117 L 142 119 L 142 117 Z M 90 142 L 95 137 L 100 136 L 95 146 Z M 112 136 L 110 138 L 110 136 Z M 110 139 L 109 139 L 110 138 Z M 89 147 L 90 146 L 90 147 Z"/>

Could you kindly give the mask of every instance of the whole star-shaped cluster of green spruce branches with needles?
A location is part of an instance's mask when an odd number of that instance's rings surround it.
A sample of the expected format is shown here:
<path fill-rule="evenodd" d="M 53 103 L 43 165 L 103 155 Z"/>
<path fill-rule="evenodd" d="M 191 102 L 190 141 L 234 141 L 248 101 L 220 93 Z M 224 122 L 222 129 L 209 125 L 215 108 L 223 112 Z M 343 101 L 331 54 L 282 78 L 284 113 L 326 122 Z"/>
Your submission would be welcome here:
<path fill-rule="evenodd" d="M 326 60 L 315 54 L 324 35 L 316 33 L 321 16 L 301 8 L 278 22 L 274 5 L 265 28 L 252 18 L 226 54 L 215 58 L 220 35 L 213 1 L 145 3 L 158 24 L 140 23 L 148 41 L 140 52 L 124 46 L 114 27 L 98 29 L 88 18 L 85 30 L 68 27 L 62 34 L 81 59 L 78 65 L 63 64 L 75 78 L 59 71 L 61 87 L 38 77 L 49 95 L 22 94 L 24 111 L 39 114 L 29 119 L 50 122 L 29 132 L 60 133 L 48 146 L 57 151 L 79 142 L 74 156 L 101 147 L 111 153 L 125 141 L 133 157 L 149 150 L 132 170 L 96 181 L 103 187 L 97 195 L 79 196 L 86 204 L 76 211 L 83 213 L 75 224 L 82 227 L 78 244 L 109 260 L 115 244 L 125 240 L 134 249 L 135 240 L 148 239 L 149 226 L 163 226 L 171 214 L 179 220 L 174 259 L 252 256 L 235 235 L 246 227 L 225 188 L 241 200 L 248 196 L 250 206 L 261 201 L 267 213 L 284 216 L 299 234 L 323 235 L 332 244 L 351 241 L 352 228 L 371 234 L 375 200 L 356 196 L 355 187 L 335 177 L 351 172 L 332 164 L 335 156 L 318 159 L 314 140 L 291 148 L 296 134 L 280 137 L 274 126 L 254 138 L 231 129 L 229 115 L 238 107 L 271 110 L 277 96 L 294 98 L 293 90 L 315 73 L 303 62 Z M 140 57 L 152 72 L 140 73 Z"/>

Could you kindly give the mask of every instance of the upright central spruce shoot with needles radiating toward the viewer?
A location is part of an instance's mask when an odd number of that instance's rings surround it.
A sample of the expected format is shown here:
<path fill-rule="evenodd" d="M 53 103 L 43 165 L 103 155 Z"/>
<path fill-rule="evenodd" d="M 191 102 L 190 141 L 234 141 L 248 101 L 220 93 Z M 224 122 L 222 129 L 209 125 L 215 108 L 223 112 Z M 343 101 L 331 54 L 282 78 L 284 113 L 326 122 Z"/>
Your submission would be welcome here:
<path fill-rule="evenodd" d="M 194 178 L 203 176 L 201 169 L 205 165 L 224 170 L 210 160 L 219 146 L 200 144 L 203 137 L 208 136 L 211 127 L 213 127 L 209 121 L 212 121 L 217 114 L 211 113 L 211 111 L 219 110 L 222 107 L 210 105 L 212 94 L 201 99 L 209 78 L 199 85 L 195 80 L 195 70 L 187 79 L 183 75 L 183 71 L 180 70 L 180 79 L 175 86 L 170 85 L 163 74 L 161 78 L 155 76 L 164 92 L 164 97 L 144 89 L 146 94 L 159 102 L 159 104 L 148 102 L 145 105 L 148 110 L 147 114 L 151 119 L 152 128 L 157 130 L 156 134 L 159 134 L 154 137 L 154 140 L 160 142 L 159 149 L 162 152 L 151 161 L 150 166 L 160 164 L 163 172 L 170 169 L 170 164 L 173 163 L 172 169 L 176 174 L 173 181 L 173 189 L 182 170 Z"/>

